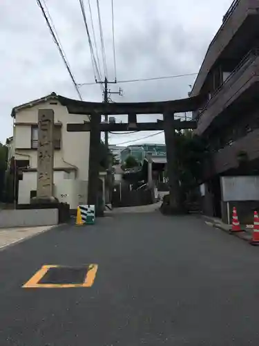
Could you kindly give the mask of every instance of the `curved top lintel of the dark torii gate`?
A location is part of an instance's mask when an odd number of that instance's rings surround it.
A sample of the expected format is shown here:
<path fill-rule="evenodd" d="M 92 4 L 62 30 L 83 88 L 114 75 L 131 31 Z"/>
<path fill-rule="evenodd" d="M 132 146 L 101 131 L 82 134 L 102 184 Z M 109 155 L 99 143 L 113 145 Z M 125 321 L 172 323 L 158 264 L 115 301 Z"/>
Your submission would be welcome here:
<path fill-rule="evenodd" d="M 169 111 L 170 113 L 182 113 L 201 109 L 205 100 L 205 95 L 198 95 L 193 96 L 192 98 L 183 98 L 173 101 L 135 103 L 84 102 L 64 98 L 60 95 L 58 96 L 58 100 L 62 105 L 67 107 L 69 113 L 73 114 L 162 114 L 164 111 Z"/>

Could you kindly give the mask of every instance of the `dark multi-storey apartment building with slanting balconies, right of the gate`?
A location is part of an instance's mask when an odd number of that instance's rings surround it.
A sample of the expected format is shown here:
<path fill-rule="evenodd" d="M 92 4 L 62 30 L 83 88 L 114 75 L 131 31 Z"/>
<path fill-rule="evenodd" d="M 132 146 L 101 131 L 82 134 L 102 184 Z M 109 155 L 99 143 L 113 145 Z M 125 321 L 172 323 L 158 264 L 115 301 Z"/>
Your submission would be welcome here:
<path fill-rule="evenodd" d="M 259 0 L 231 4 L 190 95 L 199 93 L 207 94 L 207 102 L 193 113 L 198 120 L 196 133 L 207 138 L 211 152 L 202 186 L 206 213 L 224 214 L 222 176 L 236 177 L 228 186 L 236 205 L 244 206 L 242 202 L 250 199 L 255 206 L 259 200 L 253 195 L 259 190 Z M 252 184 L 247 176 L 253 176 Z M 241 190 L 249 186 L 250 197 L 249 193 L 244 197 Z"/>

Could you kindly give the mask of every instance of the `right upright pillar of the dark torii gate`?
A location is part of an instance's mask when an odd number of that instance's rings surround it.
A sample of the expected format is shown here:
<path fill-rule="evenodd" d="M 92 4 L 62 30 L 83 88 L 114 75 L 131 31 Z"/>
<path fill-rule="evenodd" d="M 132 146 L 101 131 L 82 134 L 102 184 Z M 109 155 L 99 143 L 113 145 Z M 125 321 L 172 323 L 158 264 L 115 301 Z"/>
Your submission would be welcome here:
<path fill-rule="evenodd" d="M 165 112 L 164 139 L 166 143 L 167 172 L 169 177 L 169 205 L 163 206 L 166 214 L 181 214 L 184 208 L 180 202 L 180 183 L 175 152 L 175 120 L 174 114 Z M 163 209 L 162 209 L 163 211 Z"/>

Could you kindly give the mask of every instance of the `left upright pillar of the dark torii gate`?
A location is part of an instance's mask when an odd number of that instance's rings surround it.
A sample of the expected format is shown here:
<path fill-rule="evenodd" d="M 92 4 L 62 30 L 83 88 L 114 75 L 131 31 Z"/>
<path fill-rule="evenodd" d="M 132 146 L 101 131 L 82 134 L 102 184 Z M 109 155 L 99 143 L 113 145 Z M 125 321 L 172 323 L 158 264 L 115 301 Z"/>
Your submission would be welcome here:
<path fill-rule="evenodd" d="M 95 212 L 100 216 L 104 211 L 100 210 L 97 201 L 99 191 L 99 149 L 101 132 L 99 123 L 101 114 L 93 113 L 90 117 L 90 149 L 89 149 L 89 168 L 88 168 L 88 204 L 95 205 Z M 81 148 L 86 150 L 87 148 Z"/>

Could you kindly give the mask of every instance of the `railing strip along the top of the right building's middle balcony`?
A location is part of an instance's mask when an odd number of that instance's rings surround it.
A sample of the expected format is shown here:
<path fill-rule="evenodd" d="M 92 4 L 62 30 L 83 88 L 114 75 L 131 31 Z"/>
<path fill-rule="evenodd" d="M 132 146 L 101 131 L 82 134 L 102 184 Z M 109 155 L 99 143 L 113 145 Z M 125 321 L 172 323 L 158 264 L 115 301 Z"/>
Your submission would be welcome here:
<path fill-rule="evenodd" d="M 248 66 L 250 66 L 254 60 L 259 56 L 259 48 L 253 48 L 247 55 L 244 56 L 244 58 L 241 60 L 241 62 L 236 66 L 235 69 L 230 73 L 228 78 L 224 80 L 224 82 L 214 91 L 214 93 L 211 94 L 211 98 L 207 102 L 207 104 L 204 106 L 203 109 L 200 110 L 200 113 L 198 114 L 197 120 L 199 120 L 202 115 L 204 114 L 204 111 L 208 109 L 208 107 L 211 107 L 211 105 L 218 100 L 216 96 L 220 91 L 228 84 L 230 87 L 238 78 L 240 78 L 240 75 L 244 73 L 245 70 L 247 70 Z"/>

